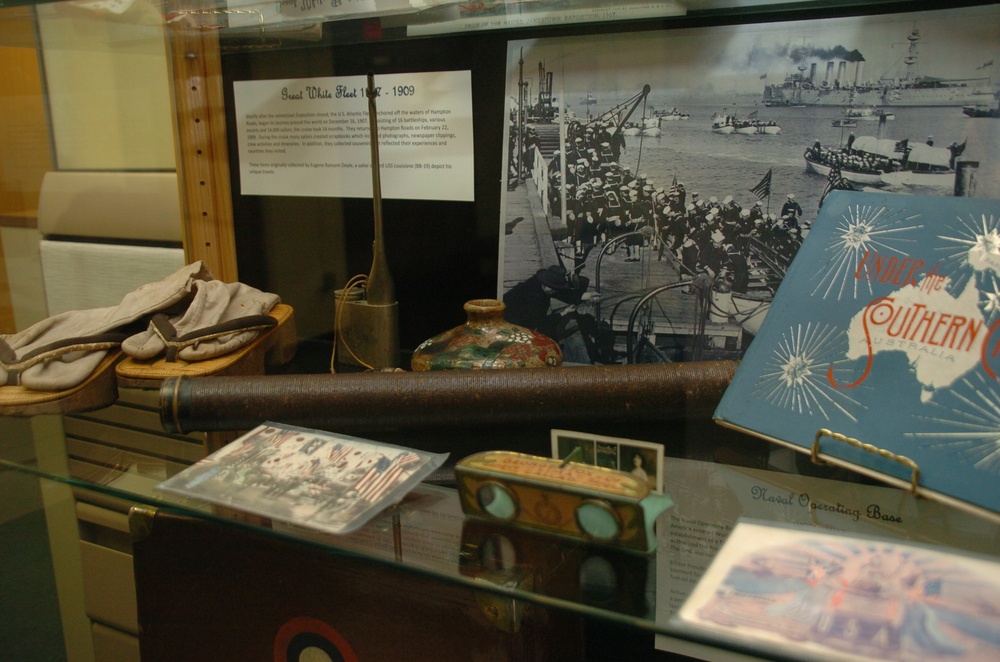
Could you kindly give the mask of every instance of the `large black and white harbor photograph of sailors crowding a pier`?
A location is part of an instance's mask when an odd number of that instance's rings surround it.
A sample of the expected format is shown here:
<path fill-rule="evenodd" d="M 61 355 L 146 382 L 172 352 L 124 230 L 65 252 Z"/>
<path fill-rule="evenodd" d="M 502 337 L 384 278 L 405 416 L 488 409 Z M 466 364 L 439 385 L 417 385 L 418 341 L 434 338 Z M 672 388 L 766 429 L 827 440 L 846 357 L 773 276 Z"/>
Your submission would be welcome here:
<path fill-rule="evenodd" d="M 1000 197 L 996 6 L 508 44 L 499 297 L 569 365 L 739 359 L 825 196 Z"/>

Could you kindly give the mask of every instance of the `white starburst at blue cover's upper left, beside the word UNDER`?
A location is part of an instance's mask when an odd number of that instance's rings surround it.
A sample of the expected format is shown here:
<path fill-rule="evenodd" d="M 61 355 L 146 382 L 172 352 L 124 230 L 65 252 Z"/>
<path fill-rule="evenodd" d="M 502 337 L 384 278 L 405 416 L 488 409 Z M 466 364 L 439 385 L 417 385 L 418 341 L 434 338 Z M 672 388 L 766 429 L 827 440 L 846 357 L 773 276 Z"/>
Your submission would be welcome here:
<path fill-rule="evenodd" d="M 919 230 L 914 224 L 919 214 L 905 215 L 884 205 L 852 205 L 836 219 L 836 232 L 830 241 L 831 258 L 817 270 L 812 296 L 840 300 L 845 293 L 858 297 L 858 288 L 872 292 L 872 281 L 857 278 L 865 255 L 877 251 L 887 257 L 906 257 L 916 240 L 908 233 Z"/>

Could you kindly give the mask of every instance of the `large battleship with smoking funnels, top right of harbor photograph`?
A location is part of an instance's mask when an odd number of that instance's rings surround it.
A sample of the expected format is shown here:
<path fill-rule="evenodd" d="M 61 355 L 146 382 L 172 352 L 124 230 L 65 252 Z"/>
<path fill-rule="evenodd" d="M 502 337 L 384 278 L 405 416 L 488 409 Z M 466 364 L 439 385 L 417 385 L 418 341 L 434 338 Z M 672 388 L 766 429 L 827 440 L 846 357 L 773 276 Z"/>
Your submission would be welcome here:
<path fill-rule="evenodd" d="M 996 92 L 988 76 L 936 78 L 917 73 L 920 30 L 914 27 L 903 57 L 900 77 L 866 78 L 866 61 L 858 50 L 838 59 L 801 64 L 781 83 L 764 85 L 765 106 L 975 106 Z M 990 62 L 992 64 L 992 62 Z M 820 67 L 824 67 L 820 73 Z M 982 71 L 983 67 L 977 70 Z"/>

